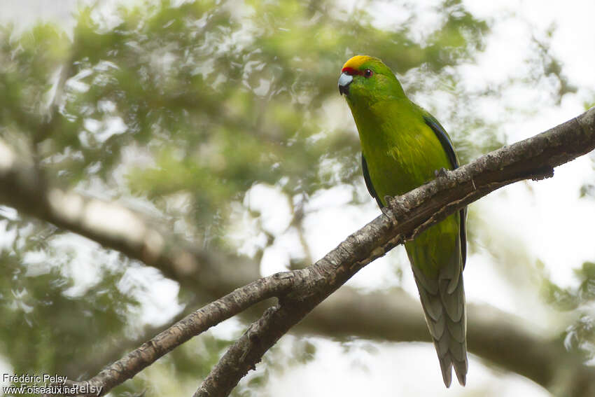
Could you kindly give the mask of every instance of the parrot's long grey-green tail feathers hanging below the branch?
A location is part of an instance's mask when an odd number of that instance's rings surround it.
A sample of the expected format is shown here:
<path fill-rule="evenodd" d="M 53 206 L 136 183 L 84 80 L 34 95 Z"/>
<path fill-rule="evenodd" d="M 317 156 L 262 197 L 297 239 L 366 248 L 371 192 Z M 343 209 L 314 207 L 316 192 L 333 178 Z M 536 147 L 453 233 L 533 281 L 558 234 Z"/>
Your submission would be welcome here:
<path fill-rule="evenodd" d="M 440 360 L 442 379 L 449 387 L 452 370 L 458 383 L 465 385 L 467 375 L 467 316 L 461 256 L 440 268 L 438 279 L 429 279 L 419 267 L 412 265 L 426 323 Z M 412 262 L 413 263 L 413 262 Z"/>

